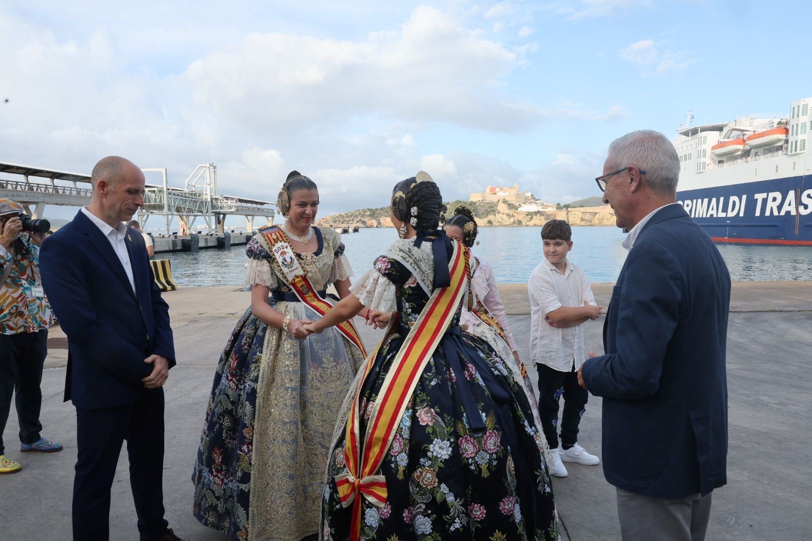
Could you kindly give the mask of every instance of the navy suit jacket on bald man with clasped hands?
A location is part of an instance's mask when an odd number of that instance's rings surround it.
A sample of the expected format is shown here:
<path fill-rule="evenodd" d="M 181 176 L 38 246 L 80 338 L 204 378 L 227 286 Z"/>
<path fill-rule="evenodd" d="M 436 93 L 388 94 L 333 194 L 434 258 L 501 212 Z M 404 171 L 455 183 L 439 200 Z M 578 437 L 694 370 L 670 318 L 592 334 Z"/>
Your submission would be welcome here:
<path fill-rule="evenodd" d="M 65 400 L 83 409 L 136 401 L 152 354 L 175 365 L 169 307 L 161 298 L 144 238 L 127 229 L 136 293 L 113 247 L 81 211 L 42 243 L 42 285 L 67 335 Z"/>

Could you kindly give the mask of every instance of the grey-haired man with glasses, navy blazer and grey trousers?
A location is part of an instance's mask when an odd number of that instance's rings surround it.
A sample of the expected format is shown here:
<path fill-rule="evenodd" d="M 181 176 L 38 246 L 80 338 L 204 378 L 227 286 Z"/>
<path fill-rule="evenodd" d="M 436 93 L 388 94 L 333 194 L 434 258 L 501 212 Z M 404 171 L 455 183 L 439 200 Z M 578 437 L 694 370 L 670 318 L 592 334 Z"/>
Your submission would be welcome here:
<path fill-rule="evenodd" d="M 730 275 L 676 203 L 680 160 L 656 131 L 612 142 L 596 178 L 628 256 L 581 384 L 603 397 L 603 473 L 624 540 L 705 539 L 727 483 Z"/>

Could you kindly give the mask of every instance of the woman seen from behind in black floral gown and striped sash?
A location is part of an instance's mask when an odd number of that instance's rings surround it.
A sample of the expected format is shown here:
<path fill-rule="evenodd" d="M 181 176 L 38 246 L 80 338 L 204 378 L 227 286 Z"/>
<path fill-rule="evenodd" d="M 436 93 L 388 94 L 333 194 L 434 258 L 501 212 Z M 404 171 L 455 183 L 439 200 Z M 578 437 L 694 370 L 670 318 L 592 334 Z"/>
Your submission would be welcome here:
<path fill-rule="evenodd" d="M 493 348 L 460 332 L 467 249 L 438 230 L 438 187 L 418 173 L 391 206 L 400 239 L 304 325 L 320 333 L 362 307 L 395 309 L 339 418 L 322 539 L 557 539 L 529 401 Z"/>

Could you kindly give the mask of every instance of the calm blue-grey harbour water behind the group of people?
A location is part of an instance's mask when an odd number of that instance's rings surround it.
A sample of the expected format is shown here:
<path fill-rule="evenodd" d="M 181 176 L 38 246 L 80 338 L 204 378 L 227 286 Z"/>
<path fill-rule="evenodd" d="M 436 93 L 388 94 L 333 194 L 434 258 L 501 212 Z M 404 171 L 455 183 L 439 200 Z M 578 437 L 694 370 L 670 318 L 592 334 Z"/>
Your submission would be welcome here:
<path fill-rule="evenodd" d="M 568 257 L 581 265 L 590 281 L 615 281 L 628 253 L 622 246 L 624 236 L 615 227 L 573 227 Z M 358 277 L 397 239 L 397 231 L 362 229 L 342 238 Z M 499 283 L 525 283 L 544 257 L 541 227 L 483 227 L 477 239 L 473 255 L 490 262 Z M 719 245 L 719 251 L 733 280 L 812 279 L 812 247 Z M 244 246 L 162 253 L 155 259 L 171 261 L 178 286 L 244 285 Z"/>

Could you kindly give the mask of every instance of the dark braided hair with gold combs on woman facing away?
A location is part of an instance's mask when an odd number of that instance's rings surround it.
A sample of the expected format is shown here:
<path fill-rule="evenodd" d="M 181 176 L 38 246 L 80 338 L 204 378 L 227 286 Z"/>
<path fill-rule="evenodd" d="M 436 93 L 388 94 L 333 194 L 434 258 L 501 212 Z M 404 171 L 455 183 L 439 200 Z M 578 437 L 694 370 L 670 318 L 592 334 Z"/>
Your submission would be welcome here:
<path fill-rule="evenodd" d="M 440 188 L 423 171 L 417 177 L 401 180 L 392 190 L 392 211 L 395 217 L 411 224 L 417 231 L 436 230 L 445 221 L 443 213 L 446 210 Z"/>

